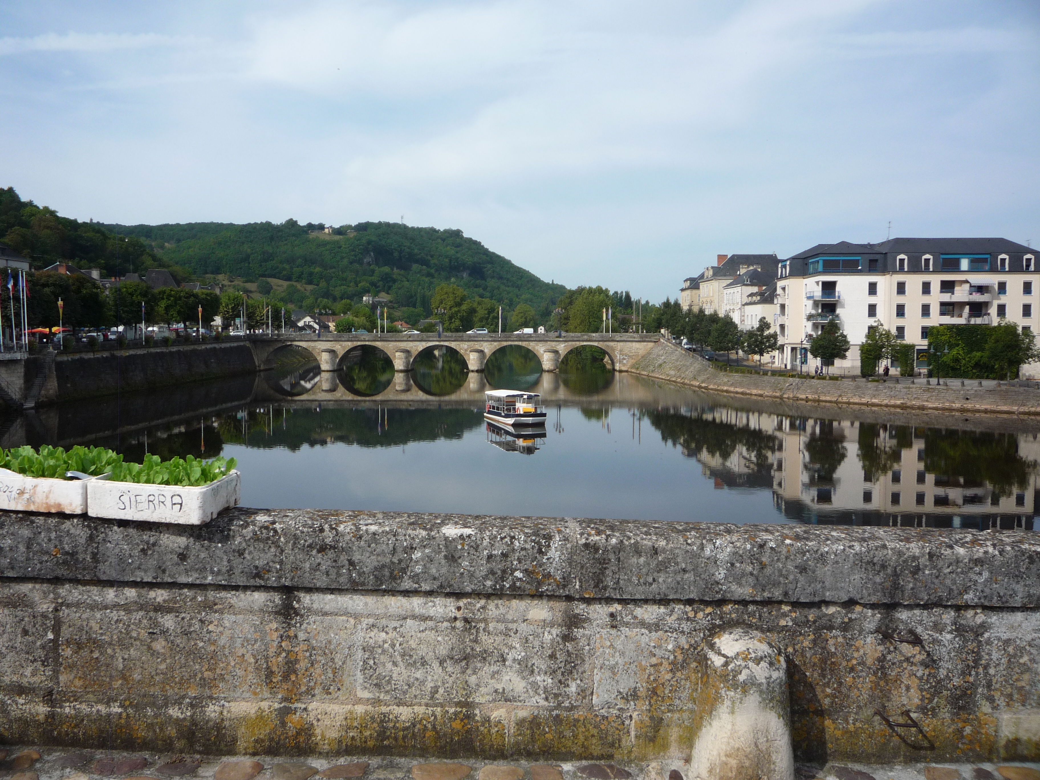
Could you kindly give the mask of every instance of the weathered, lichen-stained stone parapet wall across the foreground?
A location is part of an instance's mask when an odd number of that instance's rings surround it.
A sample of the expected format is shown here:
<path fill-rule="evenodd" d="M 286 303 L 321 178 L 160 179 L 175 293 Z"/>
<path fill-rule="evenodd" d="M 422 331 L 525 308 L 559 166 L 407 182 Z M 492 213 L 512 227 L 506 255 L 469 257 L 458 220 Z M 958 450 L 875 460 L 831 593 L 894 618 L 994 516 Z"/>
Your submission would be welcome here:
<path fill-rule="evenodd" d="M 1029 532 L 235 510 L 0 539 L 10 742 L 679 757 L 702 646 L 748 627 L 800 760 L 1040 757 Z"/>

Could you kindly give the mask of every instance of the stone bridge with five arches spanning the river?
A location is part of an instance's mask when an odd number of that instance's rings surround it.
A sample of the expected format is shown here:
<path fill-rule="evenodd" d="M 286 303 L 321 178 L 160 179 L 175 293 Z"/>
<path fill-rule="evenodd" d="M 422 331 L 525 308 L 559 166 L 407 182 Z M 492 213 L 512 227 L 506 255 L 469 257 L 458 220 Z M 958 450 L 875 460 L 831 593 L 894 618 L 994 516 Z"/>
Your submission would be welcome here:
<path fill-rule="evenodd" d="M 310 335 L 300 333 L 253 334 L 248 337 L 260 369 L 274 367 L 275 353 L 286 345 L 310 350 L 322 371 L 335 371 L 343 356 L 356 346 L 373 346 L 382 349 L 393 361 L 394 370 L 410 371 L 412 361 L 420 352 L 431 346 L 447 346 L 458 350 L 470 371 L 483 371 L 488 358 L 503 346 L 524 346 L 542 361 L 543 371 L 555 371 L 560 361 L 571 349 L 593 345 L 603 349 L 610 358 L 614 370 L 627 371 L 628 367 L 649 352 L 660 336 L 656 333 L 334 333 Z"/>

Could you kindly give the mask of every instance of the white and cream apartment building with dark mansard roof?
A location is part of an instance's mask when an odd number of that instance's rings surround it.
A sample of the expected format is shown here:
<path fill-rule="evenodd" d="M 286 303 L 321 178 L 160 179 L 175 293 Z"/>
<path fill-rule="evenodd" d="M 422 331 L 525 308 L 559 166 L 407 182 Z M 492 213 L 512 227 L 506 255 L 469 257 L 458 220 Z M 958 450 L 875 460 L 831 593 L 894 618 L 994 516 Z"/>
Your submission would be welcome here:
<path fill-rule="evenodd" d="M 839 371 L 859 371 L 859 345 L 874 326 L 916 344 L 916 367 L 926 368 L 929 328 L 1007 319 L 1036 331 L 1038 294 L 1035 251 L 1006 238 L 816 244 L 779 264 L 777 359 L 788 368 L 809 363 L 810 341 L 836 317 L 852 343 L 835 361 Z"/>

